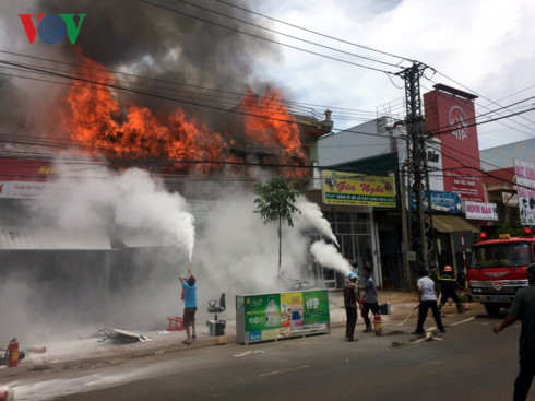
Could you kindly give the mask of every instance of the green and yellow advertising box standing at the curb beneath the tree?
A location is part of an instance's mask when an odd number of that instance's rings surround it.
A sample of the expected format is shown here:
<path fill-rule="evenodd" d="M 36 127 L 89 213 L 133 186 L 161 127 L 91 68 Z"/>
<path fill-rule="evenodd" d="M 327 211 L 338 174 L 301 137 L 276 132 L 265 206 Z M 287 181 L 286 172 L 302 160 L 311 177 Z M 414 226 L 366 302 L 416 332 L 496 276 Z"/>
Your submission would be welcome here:
<path fill-rule="evenodd" d="M 236 296 L 238 342 L 247 344 L 329 331 L 326 290 Z"/>

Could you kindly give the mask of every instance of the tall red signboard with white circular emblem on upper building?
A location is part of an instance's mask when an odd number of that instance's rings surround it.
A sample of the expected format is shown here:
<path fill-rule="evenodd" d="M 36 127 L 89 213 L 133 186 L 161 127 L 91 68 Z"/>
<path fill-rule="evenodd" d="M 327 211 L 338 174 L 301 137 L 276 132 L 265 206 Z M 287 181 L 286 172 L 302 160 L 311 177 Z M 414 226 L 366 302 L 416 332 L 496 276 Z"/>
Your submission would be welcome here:
<path fill-rule="evenodd" d="M 463 201 L 484 202 L 476 96 L 441 84 L 433 87 L 424 94 L 426 130 L 442 142 L 444 191 L 457 192 Z"/>

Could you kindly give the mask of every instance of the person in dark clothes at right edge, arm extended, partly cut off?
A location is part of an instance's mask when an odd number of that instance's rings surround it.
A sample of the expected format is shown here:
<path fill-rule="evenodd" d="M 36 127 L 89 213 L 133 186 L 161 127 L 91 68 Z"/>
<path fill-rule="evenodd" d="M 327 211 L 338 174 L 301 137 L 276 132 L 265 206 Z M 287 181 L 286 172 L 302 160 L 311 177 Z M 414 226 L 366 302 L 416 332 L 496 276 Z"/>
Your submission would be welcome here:
<path fill-rule="evenodd" d="M 516 320 L 522 321 L 519 340 L 520 371 L 514 380 L 513 400 L 525 400 L 535 376 L 535 264 L 526 269 L 528 286 L 516 291 L 513 305 L 501 323 L 492 327 L 498 334 Z"/>

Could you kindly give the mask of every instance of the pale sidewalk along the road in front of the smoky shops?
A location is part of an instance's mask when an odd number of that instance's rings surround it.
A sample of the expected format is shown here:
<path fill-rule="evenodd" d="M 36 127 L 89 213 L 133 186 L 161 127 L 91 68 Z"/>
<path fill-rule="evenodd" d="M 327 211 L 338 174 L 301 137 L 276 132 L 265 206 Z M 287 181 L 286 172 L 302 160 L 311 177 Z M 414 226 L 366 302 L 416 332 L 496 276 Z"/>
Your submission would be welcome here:
<path fill-rule="evenodd" d="M 390 303 L 390 315 L 382 316 L 382 325 L 388 328 L 392 321 L 405 319 L 417 305 L 416 293 L 403 291 L 379 291 L 380 304 Z M 331 316 L 331 328 L 345 326 L 346 316 L 342 291 L 329 292 L 329 305 Z M 160 353 L 176 352 L 187 349 L 225 344 L 236 341 L 236 321 L 230 320 L 234 315 L 233 310 L 226 310 L 222 314 L 221 319 L 226 319 L 225 335 L 210 335 L 209 327 L 202 322 L 197 323 L 197 337 L 191 345 L 182 344 L 186 339 L 183 331 L 160 331 L 141 332 L 144 337 L 151 339 L 147 342 L 133 343 L 115 343 L 111 339 L 99 342 L 104 338 L 92 337 L 81 340 L 73 340 L 58 344 L 40 344 L 47 346 L 44 354 L 27 353 L 19 367 L 0 368 L 0 378 L 12 377 L 26 374 L 28 371 L 47 370 L 47 369 L 78 369 L 106 366 L 118 363 L 128 358 L 157 355 Z M 416 318 L 417 312 L 412 315 Z M 357 330 L 361 330 L 364 325 L 359 317 Z M 290 341 L 290 340 L 289 340 Z M 252 346 L 252 345 L 249 345 Z"/>

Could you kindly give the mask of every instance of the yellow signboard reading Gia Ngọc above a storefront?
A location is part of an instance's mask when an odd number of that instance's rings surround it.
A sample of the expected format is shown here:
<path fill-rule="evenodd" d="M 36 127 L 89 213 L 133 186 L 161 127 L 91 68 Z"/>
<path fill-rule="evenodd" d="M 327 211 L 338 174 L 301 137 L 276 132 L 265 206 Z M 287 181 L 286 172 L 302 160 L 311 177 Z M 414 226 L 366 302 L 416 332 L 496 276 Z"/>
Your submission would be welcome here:
<path fill-rule="evenodd" d="M 394 179 L 355 173 L 323 172 L 323 203 L 395 208 Z"/>

